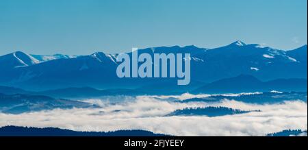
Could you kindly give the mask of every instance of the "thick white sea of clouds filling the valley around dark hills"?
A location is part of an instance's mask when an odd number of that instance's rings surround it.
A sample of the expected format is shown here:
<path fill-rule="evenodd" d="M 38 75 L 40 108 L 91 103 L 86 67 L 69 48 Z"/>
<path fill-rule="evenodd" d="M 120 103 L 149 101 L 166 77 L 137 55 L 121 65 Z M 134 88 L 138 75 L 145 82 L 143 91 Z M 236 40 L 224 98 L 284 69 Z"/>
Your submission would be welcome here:
<path fill-rule="evenodd" d="M 0 126 L 60 127 L 76 131 L 114 131 L 144 129 L 174 136 L 265 136 L 283 129 L 307 129 L 307 103 L 285 101 L 257 105 L 232 99 L 219 102 L 181 100 L 208 95 L 138 96 L 113 103 L 108 99 L 86 99 L 101 108 L 55 109 L 23 114 L 0 113 Z M 120 97 L 123 99 L 123 97 Z M 224 106 L 240 110 L 261 110 L 227 116 L 165 116 L 183 108 Z"/>

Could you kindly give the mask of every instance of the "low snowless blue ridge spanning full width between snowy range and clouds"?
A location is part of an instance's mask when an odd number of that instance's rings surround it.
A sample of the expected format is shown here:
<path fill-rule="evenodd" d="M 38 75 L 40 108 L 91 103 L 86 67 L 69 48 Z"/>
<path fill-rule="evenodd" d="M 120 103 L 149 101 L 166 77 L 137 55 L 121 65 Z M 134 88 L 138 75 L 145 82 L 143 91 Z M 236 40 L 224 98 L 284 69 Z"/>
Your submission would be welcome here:
<path fill-rule="evenodd" d="M 240 92 L 270 92 L 272 90 L 282 92 L 304 92 L 307 91 L 307 79 L 274 79 L 268 82 L 261 82 L 252 75 L 239 75 L 227 79 L 220 79 L 210 84 L 202 82 L 192 82 L 187 86 L 174 86 L 176 80 L 172 82 L 158 82 L 141 86 L 136 89 L 114 88 L 98 90 L 91 87 L 79 88 L 59 88 L 54 90 L 43 90 L 33 92 L 21 88 L 9 86 L 0 86 L 0 93 L 6 95 L 27 94 L 27 95 L 45 95 L 49 97 L 62 99 L 78 98 L 97 98 L 112 95 L 180 95 L 185 92 L 193 94 L 223 94 Z"/>

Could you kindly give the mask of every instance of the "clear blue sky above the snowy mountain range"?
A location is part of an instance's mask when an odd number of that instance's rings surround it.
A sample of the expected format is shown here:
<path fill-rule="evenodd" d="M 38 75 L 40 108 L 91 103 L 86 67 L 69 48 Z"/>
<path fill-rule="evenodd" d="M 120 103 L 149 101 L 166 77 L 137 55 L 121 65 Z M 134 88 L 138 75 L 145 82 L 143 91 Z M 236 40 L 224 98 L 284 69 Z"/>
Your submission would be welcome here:
<path fill-rule="evenodd" d="M 0 55 L 307 44 L 307 0 L 0 0 Z"/>

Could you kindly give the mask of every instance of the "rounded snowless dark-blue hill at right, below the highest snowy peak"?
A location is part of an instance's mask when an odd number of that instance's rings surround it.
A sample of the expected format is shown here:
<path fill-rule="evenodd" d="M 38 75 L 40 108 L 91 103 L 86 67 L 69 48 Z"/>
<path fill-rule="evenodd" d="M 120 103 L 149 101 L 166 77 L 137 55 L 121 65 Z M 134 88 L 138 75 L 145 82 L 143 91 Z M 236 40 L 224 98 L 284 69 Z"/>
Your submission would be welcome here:
<path fill-rule="evenodd" d="M 239 93 L 239 92 L 264 92 L 279 91 L 307 91 L 307 79 L 275 79 L 269 82 L 261 82 L 252 75 L 239 75 L 228 79 L 220 79 L 216 82 L 201 86 L 193 93 Z"/>

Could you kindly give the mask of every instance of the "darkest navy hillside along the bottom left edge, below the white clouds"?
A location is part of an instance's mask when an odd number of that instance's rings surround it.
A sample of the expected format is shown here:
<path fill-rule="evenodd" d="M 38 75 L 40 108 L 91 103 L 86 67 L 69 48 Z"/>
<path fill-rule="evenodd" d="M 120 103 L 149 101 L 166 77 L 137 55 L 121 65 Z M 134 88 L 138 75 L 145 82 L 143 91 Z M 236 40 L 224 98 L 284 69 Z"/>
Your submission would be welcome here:
<path fill-rule="evenodd" d="M 0 127 L 0 136 L 167 136 L 154 134 L 140 129 L 118 130 L 115 132 L 75 132 L 69 129 L 56 127 Z"/>

